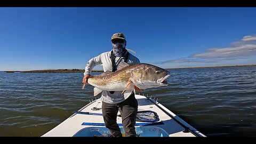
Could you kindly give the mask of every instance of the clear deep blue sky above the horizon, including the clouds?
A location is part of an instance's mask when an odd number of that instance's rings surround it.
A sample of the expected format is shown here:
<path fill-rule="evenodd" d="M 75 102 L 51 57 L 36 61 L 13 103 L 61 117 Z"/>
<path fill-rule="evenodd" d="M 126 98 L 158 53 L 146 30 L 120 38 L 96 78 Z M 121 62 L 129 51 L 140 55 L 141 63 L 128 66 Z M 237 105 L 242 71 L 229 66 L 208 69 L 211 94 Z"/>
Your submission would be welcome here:
<path fill-rule="evenodd" d="M 0 70 L 84 69 L 114 33 L 162 68 L 256 64 L 256 7 L 0 7 Z"/>

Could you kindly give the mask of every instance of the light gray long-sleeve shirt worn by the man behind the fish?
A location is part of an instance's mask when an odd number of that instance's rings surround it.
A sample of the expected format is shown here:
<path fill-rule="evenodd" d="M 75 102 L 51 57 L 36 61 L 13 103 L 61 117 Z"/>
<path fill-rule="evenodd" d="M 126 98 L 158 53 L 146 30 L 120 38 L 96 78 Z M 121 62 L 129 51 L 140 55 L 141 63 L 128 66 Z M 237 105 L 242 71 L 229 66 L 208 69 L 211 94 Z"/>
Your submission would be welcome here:
<path fill-rule="evenodd" d="M 101 64 L 103 66 L 104 72 L 112 71 L 112 62 L 111 62 L 110 55 L 111 55 L 111 51 L 101 53 L 97 57 L 90 59 L 85 66 L 84 75 L 91 74 L 92 69 L 95 66 L 101 65 Z M 115 63 L 116 63 L 115 68 L 117 68 L 118 64 L 120 62 L 124 61 L 124 57 L 122 57 L 120 59 L 119 59 L 119 57 L 114 57 L 114 58 L 115 58 Z M 140 63 L 140 60 L 130 53 L 126 62 L 129 64 Z M 113 94 L 111 94 L 109 91 L 102 91 L 100 99 L 107 103 L 113 103 L 113 104 L 119 103 L 119 102 L 122 102 L 125 100 L 123 94 L 121 94 L 121 93 L 122 93 L 122 91 L 115 91 Z"/>

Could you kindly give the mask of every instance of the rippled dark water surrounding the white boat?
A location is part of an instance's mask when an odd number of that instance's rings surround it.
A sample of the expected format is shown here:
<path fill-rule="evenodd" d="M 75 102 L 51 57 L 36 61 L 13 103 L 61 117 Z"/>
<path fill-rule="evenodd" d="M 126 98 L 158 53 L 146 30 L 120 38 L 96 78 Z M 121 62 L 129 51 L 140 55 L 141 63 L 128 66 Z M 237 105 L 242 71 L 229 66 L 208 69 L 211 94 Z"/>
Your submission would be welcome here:
<path fill-rule="evenodd" d="M 207 137 L 256 137 L 256 67 L 170 72 L 169 86 L 144 94 Z M 94 98 L 91 85 L 81 90 L 82 78 L 83 73 L 0 71 L 0 136 L 39 137 L 63 122 Z"/>

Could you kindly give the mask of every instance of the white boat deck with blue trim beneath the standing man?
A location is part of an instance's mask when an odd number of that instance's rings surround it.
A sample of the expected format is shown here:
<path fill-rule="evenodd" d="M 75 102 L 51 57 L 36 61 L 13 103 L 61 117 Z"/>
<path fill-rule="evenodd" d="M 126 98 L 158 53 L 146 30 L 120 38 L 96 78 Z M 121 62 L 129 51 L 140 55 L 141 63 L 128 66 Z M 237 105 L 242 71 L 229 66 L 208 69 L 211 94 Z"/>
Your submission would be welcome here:
<path fill-rule="evenodd" d="M 135 91 L 134 91 L 135 92 Z M 138 100 L 138 113 L 135 131 L 138 137 L 206 137 L 193 126 L 172 113 L 155 98 L 135 93 Z M 41 137 L 109 137 L 101 112 L 101 100 L 89 100 L 83 108 L 54 127 Z M 120 113 L 117 124 L 124 136 Z"/>

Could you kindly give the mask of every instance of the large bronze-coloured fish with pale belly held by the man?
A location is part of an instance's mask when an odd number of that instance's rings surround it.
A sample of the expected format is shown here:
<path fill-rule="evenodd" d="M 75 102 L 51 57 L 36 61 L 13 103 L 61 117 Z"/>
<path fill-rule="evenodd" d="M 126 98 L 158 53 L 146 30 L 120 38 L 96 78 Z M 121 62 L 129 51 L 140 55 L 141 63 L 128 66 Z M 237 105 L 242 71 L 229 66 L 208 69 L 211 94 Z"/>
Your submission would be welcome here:
<path fill-rule="evenodd" d="M 94 96 L 106 90 L 122 91 L 124 98 L 126 98 L 129 97 L 135 87 L 145 90 L 167 86 L 169 85 L 166 81 L 168 77 L 170 77 L 169 71 L 149 63 L 128 64 L 121 62 L 115 72 L 106 71 L 100 75 L 90 76 L 88 83 L 94 86 Z M 84 86 L 85 84 L 82 89 Z"/>

